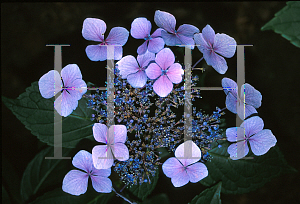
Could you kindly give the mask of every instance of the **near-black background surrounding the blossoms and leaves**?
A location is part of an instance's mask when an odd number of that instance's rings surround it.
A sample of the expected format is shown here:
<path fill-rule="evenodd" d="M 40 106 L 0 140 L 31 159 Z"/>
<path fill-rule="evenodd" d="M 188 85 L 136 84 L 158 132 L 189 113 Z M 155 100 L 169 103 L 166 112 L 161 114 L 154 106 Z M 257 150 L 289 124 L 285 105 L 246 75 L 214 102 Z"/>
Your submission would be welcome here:
<path fill-rule="evenodd" d="M 63 67 L 76 63 L 83 79 L 103 86 L 106 62 L 91 62 L 85 48 L 92 42 L 81 35 L 82 23 L 87 17 L 100 18 L 106 22 L 105 37 L 111 28 L 125 27 L 130 31 L 132 21 L 146 17 L 154 23 L 155 10 L 167 11 L 181 24 L 192 24 L 202 30 L 210 24 L 216 33 L 226 33 L 235 38 L 237 44 L 251 44 L 245 48 L 246 82 L 263 95 L 258 109 L 266 129 L 271 129 L 277 138 L 277 145 L 289 165 L 300 170 L 298 127 L 300 124 L 299 76 L 300 49 L 273 31 L 262 32 L 260 28 L 271 20 L 274 14 L 285 6 L 285 2 L 239 2 L 239 3 L 3 3 L 1 4 L 1 88 L 2 96 L 17 98 L 32 82 L 53 69 L 53 47 L 46 44 L 70 44 L 63 47 Z M 142 40 L 129 36 L 123 47 L 123 55 L 136 56 L 136 49 Z M 195 49 L 193 62 L 202 54 Z M 225 75 L 207 67 L 204 86 L 220 86 L 221 79 L 236 80 L 236 55 L 227 60 L 229 69 Z M 195 72 L 197 74 L 197 72 Z M 201 75 L 199 71 L 198 74 Z M 197 103 L 211 111 L 215 106 L 225 107 L 222 91 L 203 91 L 203 99 Z M 235 115 L 228 127 L 234 126 Z M 296 134 L 297 133 L 297 134 Z M 2 168 L 15 171 L 12 179 L 18 189 L 27 164 L 38 152 L 40 142 L 2 104 Z M 161 172 L 162 173 L 162 172 Z M 6 175 L 3 175 L 5 177 Z M 3 181 L 3 180 L 2 180 Z M 221 195 L 222 203 L 298 203 L 299 173 L 282 175 L 262 188 L 243 195 Z M 170 203 L 188 203 L 198 195 L 204 186 L 191 184 L 174 188 L 170 179 L 161 174 L 158 184 L 150 195 L 166 193 Z M 115 198 L 115 203 L 122 202 Z"/>

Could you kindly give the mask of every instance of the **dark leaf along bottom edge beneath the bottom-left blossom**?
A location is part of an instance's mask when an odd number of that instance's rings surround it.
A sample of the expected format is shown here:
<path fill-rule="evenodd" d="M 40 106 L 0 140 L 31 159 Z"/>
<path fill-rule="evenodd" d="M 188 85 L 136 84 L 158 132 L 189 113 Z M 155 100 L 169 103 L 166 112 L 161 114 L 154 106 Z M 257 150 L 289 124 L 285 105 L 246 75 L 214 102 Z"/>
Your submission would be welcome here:
<path fill-rule="evenodd" d="M 38 197 L 31 204 L 106 204 L 112 195 L 113 193 L 98 193 L 92 186 L 80 196 L 70 195 L 58 188 Z"/>

